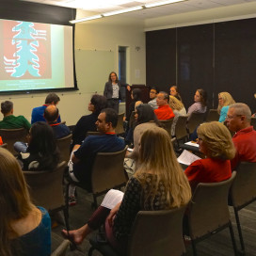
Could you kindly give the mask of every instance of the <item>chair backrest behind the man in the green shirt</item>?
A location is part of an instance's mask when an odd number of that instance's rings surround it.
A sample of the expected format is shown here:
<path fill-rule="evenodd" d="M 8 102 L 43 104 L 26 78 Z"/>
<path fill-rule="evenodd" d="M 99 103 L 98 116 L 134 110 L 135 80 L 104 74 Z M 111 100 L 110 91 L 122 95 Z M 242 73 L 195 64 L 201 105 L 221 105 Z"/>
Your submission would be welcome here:
<path fill-rule="evenodd" d="M 14 151 L 13 144 L 16 141 L 26 142 L 27 130 L 24 128 L 19 129 L 0 129 L 0 136 L 5 143 L 8 144 L 8 151 L 11 153 L 17 153 Z"/>

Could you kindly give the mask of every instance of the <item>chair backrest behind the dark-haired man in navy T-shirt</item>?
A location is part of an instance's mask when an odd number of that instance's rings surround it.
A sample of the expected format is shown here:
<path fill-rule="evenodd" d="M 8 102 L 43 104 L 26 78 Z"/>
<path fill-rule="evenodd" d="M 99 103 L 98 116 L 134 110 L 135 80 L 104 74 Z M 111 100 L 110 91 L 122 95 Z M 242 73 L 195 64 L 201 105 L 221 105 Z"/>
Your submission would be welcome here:
<path fill-rule="evenodd" d="M 127 146 L 120 152 L 98 152 L 91 171 L 91 186 L 94 194 L 126 184 L 127 175 L 123 160 Z"/>

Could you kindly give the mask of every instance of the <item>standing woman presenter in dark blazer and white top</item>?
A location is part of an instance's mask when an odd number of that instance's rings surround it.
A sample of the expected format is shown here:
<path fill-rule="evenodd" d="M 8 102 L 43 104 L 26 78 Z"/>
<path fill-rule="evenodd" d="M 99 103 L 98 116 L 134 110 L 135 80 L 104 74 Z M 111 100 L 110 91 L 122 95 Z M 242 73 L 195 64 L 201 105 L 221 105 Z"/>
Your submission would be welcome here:
<path fill-rule="evenodd" d="M 122 84 L 116 72 L 110 72 L 108 81 L 104 85 L 104 97 L 107 99 L 107 107 L 115 109 L 119 113 L 120 100 L 125 101 L 126 88 L 128 84 Z"/>

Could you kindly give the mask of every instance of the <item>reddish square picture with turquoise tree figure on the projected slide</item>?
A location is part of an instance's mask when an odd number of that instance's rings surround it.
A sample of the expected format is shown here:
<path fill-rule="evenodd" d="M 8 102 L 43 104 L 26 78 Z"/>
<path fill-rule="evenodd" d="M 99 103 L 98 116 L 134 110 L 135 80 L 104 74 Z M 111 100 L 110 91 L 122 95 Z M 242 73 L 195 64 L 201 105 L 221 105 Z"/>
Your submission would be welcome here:
<path fill-rule="evenodd" d="M 51 26 L 4 22 L 3 79 L 51 78 Z"/>

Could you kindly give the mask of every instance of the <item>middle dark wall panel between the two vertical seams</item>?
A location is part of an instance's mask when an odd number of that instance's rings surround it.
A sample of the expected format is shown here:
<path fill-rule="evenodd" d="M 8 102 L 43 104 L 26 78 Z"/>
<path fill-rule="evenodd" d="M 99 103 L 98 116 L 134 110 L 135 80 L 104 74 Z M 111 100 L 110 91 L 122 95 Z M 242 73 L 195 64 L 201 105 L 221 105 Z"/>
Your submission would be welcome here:
<path fill-rule="evenodd" d="M 178 87 L 187 108 L 194 103 L 197 88 L 213 101 L 213 24 L 177 28 Z"/>

